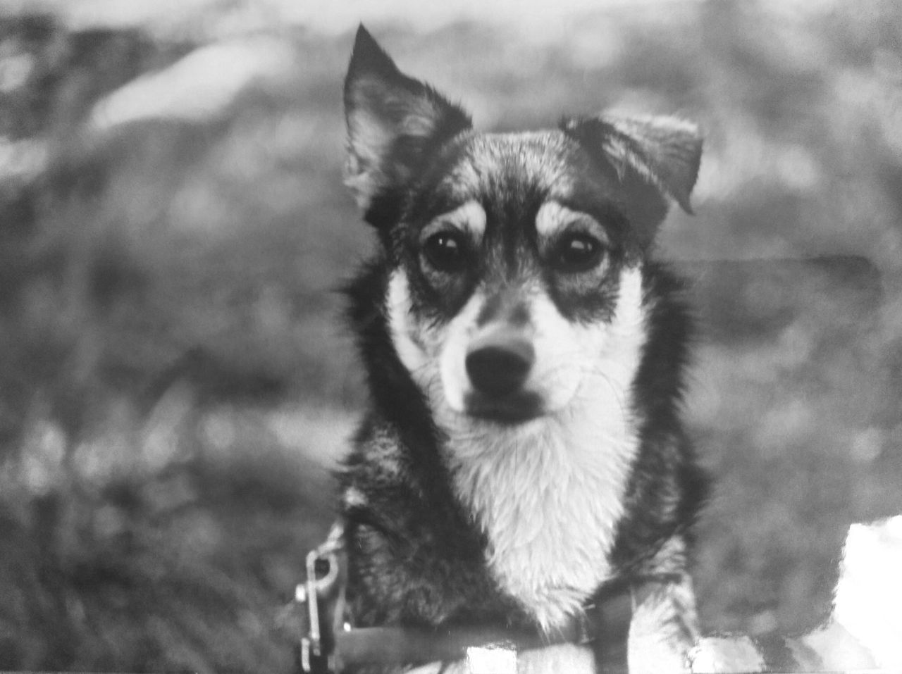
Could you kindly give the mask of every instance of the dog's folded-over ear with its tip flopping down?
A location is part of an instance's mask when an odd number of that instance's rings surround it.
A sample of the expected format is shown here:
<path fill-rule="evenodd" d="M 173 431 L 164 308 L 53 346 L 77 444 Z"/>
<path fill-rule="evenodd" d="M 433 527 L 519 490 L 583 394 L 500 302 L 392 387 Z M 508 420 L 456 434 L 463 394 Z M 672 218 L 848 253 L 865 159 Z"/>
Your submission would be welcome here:
<path fill-rule="evenodd" d="M 565 120 L 563 129 L 590 153 L 601 152 L 621 178 L 635 171 L 692 213 L 689 196 L 702 159 L 702 135 L 695 123 L 602 114 Z"/>

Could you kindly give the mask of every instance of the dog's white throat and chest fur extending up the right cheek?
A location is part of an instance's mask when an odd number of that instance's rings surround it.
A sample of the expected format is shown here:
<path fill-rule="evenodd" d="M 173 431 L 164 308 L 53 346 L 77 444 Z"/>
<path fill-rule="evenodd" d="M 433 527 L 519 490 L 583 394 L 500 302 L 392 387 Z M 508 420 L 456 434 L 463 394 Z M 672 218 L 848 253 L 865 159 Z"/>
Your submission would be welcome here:
<path fill-rule="evenodd" d="M 492 574 L 546 628 L 578 612 L 612 574 L 640 445 L 631 397 L 646 335 L 641 283 L 639 269 L 624 274 L 602 352 L 565 409 L 517 426 L 437 419 Z"/>

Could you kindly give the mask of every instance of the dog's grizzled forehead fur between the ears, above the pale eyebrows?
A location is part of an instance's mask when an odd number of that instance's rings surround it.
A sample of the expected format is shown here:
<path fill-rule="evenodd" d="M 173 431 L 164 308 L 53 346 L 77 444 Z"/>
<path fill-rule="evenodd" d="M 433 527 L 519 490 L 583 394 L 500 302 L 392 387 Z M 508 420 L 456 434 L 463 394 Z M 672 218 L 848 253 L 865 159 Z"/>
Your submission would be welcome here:
<path fill-rule="evenodd" d="M 461 200 L 566 199 L 585 169 L 577 143 L 557 131 L 473 135 L 454 159 L 439 187 Z"/>

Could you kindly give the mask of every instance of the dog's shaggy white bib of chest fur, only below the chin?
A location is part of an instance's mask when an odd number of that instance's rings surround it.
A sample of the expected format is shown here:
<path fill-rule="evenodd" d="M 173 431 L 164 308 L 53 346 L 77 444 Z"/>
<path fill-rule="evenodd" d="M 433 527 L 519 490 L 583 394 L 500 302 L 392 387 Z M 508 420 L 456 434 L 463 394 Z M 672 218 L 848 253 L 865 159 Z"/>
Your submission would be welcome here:
<path fill-rule="evenodd" d="M 492 576 L 545 627 L 563 623 L 610 576 L 638 445 L 618 412 L 606 428 L 540 422 L 451 441 L 467 445 L 452 447 L 455 487 L 486 534 Z"/>

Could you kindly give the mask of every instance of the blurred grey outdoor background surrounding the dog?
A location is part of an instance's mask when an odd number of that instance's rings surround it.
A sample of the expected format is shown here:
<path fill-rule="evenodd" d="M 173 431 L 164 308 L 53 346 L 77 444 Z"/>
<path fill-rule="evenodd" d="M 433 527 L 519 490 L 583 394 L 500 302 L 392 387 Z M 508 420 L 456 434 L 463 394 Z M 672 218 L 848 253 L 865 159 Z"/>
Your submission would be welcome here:
<path fill-rule="evenodd" d="M 706 137 L 692 278 L 707 631 L 830 609 L 902 513 L 902 4 L 0 2 L 0 669 L 290 671 L 275 615 L 365 402 L 340 287 L 359 21 L 482 129 Z"/>

